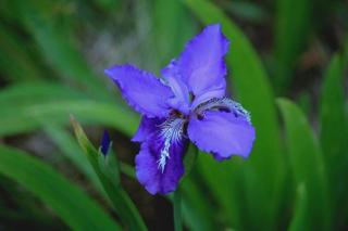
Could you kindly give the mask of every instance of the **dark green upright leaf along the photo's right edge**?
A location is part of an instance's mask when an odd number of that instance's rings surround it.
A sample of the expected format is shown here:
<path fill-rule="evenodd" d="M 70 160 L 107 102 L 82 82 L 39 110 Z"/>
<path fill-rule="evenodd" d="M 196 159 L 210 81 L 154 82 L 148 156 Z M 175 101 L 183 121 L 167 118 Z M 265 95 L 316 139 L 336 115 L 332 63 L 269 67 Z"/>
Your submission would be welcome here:
<path fill-rule="evenodd" d="M 347 120 L 345 112 L 344 64 L 339 54 L 333 56 L 324 75 L 320 98 L 320 140 L 328 171 L 331 189 L 334 193 L 335 224 L 341 222 L 345 214 L 340 208 L 347 200 L 348 174 Z M 339 229 L 339 227 L 336 227 Z"/>

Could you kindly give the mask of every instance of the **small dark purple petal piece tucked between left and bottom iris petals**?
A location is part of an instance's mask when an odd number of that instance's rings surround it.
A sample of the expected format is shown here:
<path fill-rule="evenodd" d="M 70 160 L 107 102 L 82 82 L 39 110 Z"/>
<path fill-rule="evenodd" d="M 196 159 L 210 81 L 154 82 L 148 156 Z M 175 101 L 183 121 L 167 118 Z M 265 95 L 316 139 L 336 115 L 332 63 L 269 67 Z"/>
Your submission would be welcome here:
<path fill-rule="evenodd" d="M 133 136 L 133 142 L 144 142 L 150 138 L 151 133 L 159 129 L 159 126 L 164 121 L 162 118 L 148 118 L 146 116 L 141 117 L 138 130 Z"/>

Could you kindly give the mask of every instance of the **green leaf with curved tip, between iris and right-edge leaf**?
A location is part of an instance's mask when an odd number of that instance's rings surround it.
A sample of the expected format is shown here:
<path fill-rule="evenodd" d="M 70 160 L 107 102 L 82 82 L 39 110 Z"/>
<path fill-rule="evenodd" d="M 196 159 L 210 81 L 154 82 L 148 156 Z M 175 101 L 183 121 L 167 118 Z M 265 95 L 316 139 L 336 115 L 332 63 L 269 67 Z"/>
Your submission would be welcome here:
<path fill-rule="evenodd" d="M 304 184 L 312 230 L 330 230 L 331 204 L 327 179 L 320 146 L 303 113 L 288 100 L 279 99 L 286 133 L 286 145 L 297 185 Z"/>

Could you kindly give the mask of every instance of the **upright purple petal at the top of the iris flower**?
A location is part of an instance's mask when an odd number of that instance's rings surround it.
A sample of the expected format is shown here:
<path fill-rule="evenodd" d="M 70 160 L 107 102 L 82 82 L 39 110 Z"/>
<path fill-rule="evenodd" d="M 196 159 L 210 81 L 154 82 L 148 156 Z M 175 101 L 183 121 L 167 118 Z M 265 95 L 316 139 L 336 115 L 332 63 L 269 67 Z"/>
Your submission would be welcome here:
<path fill-rule="evenodd" d="M 206 93 L 221 98 L 226 87 L 223 57 L 227 50 L 228 40 L 223 36 L 220 25 L 208 26 L 186 44 L 181 56 L 172 61 L 162 75 L 181 79 L 197 99 Z"/>

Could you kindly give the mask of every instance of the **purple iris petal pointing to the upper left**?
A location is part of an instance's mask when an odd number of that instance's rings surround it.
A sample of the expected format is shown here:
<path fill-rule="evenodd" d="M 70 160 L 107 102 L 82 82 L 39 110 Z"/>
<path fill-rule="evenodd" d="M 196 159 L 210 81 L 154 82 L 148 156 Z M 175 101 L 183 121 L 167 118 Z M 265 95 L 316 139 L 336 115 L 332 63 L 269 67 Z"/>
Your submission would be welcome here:
<path fill-rule="evenodd" d="M 154 75 L 132 65 L 113 66 L 105 74 L 119 86 L 123 98 L 137 112 L 152 117 L 166 117 L 167 100 L 173 92 Z"/>

